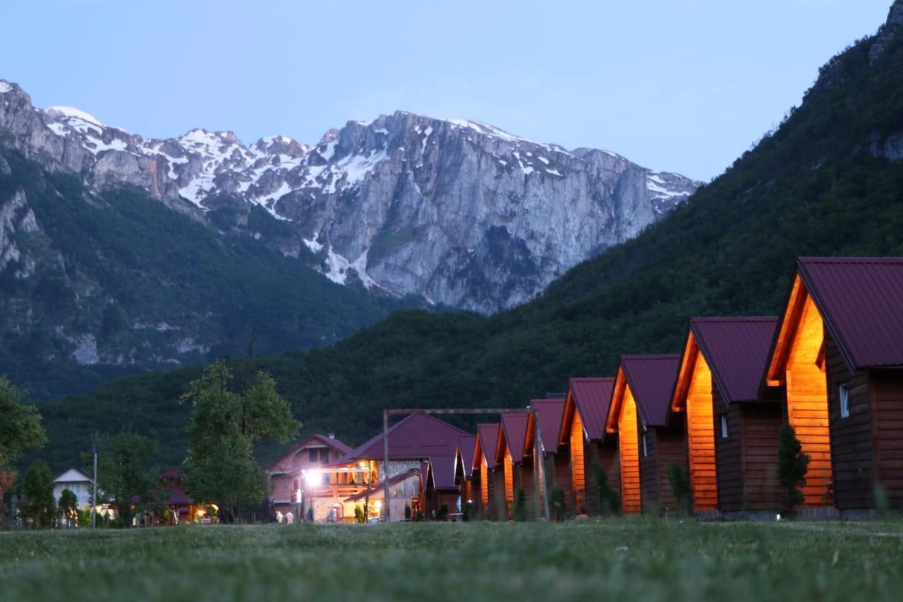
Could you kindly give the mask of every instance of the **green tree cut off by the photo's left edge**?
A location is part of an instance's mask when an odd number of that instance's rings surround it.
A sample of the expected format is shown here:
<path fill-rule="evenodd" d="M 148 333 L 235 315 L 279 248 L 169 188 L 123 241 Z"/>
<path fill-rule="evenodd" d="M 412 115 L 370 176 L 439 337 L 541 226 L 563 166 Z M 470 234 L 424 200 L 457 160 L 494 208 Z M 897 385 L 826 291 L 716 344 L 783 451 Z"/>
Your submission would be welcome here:
<path fill-rule="evenodd" d="M 0 377 L 0 514 L 4 494 L 15 481 L 15 461 L 24 449 L 41 447 L 46 441 L 38 410 L 24 405 L 22 393 Z"/>

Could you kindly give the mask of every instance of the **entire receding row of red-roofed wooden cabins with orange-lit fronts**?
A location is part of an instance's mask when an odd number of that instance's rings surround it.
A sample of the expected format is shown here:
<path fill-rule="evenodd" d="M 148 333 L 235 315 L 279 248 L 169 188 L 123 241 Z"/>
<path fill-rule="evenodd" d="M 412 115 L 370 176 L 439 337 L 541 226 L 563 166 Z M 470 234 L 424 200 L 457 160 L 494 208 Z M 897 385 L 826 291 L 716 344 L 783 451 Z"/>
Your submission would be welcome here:
<path fill-rule="evenodd" d="M 798 259 L 781 315 L 693 318 L 682 353 L 623 355 L 614 376 L 571 379 L 528 408 L 476 434 L 432 416 L 400 421 L 396 436 L 413 421 L 417 442 L 390 438 L 406 449 L 393 449 L 390 475 L 420 477 L 402 499 L 427 515 L 470 505 L 510 518 L 517 490 L 530 500 L 541 475 L 566 512 L 599 513 L 604 473 L 621 513 L 671 512 L 675 464 L 697 515 L 773 516 L 786 505 L 777 439 L 788 422 L 811 458 L 804 514 L 903 507 L 903 259 Z M 376 469 L 382 436 L 362 448 L 346 465 Z"/>

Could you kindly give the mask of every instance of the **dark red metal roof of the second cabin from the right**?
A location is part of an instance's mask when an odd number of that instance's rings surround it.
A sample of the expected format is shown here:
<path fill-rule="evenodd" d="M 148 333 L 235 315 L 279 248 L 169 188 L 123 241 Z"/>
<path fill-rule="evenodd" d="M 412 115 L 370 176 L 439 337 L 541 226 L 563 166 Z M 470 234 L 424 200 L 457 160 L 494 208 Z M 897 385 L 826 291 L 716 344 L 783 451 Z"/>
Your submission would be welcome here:
<path fill-rule="evenodd" d="M 712 380 L 728 403 L 759 399 L 759 387 L 775 338 L 777 316 L 694 317 L 690 320 Z"/>

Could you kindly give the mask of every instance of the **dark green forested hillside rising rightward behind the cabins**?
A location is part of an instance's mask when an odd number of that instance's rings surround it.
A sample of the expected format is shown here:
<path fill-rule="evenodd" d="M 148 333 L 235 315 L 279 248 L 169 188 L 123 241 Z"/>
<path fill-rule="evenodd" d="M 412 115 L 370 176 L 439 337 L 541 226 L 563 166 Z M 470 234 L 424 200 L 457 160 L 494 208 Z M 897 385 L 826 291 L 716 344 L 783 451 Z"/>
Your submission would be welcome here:
<path fill-rule="evenodd" d="M 774 314 L 796 255 L 903 254 L 903 44 L 898 25 L 821 70 L 800 108 L 685 206 L 574 268 L 533 303 L 484 318 L 397 313 L 330 348 L 258 358 L 306 431 L 358 443 L 380 410 L 519 406 L 620 353 L 678 352 L 693 315 Z M 742 115 L 737 116 L 742 119 Z M 241 370 L 237 365 L 237 370 Z M 72 461 L 98 428 L 154 430 L 182 459 L 196 370 L 111 382 L 41 403 Z"/>

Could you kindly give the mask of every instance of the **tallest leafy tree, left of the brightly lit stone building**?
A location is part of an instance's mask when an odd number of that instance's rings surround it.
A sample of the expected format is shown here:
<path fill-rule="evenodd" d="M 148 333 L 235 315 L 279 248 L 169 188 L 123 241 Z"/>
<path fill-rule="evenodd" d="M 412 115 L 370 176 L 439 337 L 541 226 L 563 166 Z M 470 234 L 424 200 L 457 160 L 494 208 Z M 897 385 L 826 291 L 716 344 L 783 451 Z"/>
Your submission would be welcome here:
<path fill-rule="evenodd" d="M 285 442 L 301 424 L 269 374 L 258 372 L 242 392 L 230 390 L 232 381 L 226 362 L 214 362 L 182 400 L 193 406 L 185 489 L 194 500 L 217 503 L 223 518 L 235 521 L 267 493 L 254 443 L 264 437 Z"/>

